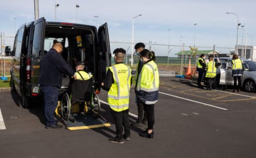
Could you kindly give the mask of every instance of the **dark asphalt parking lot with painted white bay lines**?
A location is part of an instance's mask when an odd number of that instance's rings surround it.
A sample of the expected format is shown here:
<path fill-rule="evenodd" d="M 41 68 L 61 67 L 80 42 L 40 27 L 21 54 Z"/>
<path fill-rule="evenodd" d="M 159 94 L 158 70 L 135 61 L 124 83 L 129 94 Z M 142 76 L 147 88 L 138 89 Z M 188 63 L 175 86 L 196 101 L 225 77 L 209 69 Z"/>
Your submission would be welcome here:
<path fill-rule="evenodd" d="M 168 81 L 168 84 L 165 82 Z M 106 92 L 100 94 L 106 102 Z M 137 115 L 131 90 L 130 112 Z M 186 80 L 165 79 L 155 106 L 155 138 L 114 144 L 115 127 L 47 130 L 42 107 L 23 109 L 16 93 L 0 92 L 6 129 L 0 157 L 256 157 L 256 93 L 202 90 Z M 102 115 L 113 123 L 108 106 Z M 131 121 L 135 119 L 130 118 Z"/>

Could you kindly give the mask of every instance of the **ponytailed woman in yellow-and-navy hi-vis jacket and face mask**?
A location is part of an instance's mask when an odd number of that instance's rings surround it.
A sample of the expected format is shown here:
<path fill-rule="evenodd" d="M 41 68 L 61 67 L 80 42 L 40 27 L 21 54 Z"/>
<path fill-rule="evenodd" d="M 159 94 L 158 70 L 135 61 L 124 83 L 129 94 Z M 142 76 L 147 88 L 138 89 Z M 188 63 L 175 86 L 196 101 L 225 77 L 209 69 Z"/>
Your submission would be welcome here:
<path fill-rule="evenodd" d="M 153 138 L 153 127 L 155 124 L 154 106 L 158 99 L 159 93 L 159 71 L 155 64 L 155 53 L 144 49 L 141 52 L 143 66 L 141 73 L 138 75 L 137 104 L 143 105 L 147 114 L 148 128 L 139 133 L 139 136 Z"/>

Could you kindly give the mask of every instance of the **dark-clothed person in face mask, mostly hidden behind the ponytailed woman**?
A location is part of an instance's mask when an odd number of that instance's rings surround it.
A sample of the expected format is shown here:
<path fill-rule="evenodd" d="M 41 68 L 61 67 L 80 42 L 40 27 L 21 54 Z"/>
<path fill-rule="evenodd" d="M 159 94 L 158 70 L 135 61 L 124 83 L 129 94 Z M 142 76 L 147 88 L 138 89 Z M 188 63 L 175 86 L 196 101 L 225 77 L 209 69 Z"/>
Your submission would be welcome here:
<path fill-rule="evenodd" d="M 140 53 L 142 52 L 142 50 L 145 49 L 145 45 L 144 43 L 137 43 L 135 45 L 135 51 L 137 55 L 140 55 Z M 143 66 L 143 60 L 142 58 L 139 58 L 137 67 L 136 67 L 136 74 L 135 74 L 135 94 L 136 94 L 136 103 L 137 103 L 137 91 L 136 91 L 136 87 L 137 87 L 137 83 L 138 83 L 138 75 L 141 72 Z M 144 107 L 143 104 L 137 104 L 138 107 L 138 119 L 136 122 L 131 123 L 131 125 L 133 126 L 137 126 L 137 127 L 142 127 L 142 124 L 147 124 L 147 116 L 146 113 L 144 112 Z"/>

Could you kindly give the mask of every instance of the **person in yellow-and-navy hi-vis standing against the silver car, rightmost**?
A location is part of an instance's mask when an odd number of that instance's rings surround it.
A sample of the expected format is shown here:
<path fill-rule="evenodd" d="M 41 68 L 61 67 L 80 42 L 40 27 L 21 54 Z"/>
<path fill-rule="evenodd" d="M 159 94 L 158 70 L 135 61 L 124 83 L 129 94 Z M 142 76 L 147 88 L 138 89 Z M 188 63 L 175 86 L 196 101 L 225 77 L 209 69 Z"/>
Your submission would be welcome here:
<path fill-rule="evenodd" d="M 241 77 L 242 77 L 242 71 L 243 71 L 243 61 L 238 58 L 238 55 L 234 54 L 232 58 L 232 75 L 234 78 L 234 87 L 233 87 L 233 92 L 237 90 L 237 92 L 240 91 L 241 87 Z M 236 83 L 238 81 L 238 85 Z"/>

